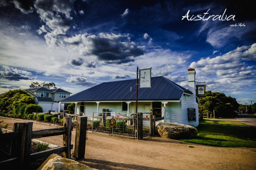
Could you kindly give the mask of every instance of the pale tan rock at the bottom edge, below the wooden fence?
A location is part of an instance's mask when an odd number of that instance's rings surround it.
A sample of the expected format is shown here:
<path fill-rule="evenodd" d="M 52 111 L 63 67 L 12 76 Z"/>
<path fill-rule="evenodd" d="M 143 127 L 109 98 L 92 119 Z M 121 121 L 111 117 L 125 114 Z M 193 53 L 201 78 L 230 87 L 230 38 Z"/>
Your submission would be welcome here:
<path fill-rule="evenodd" d="M 43 164 L 37 170 L 73 170 L 73 169 L 85 169 L 93 170 L 84 164 L 80 164 L 77 161 L 61 157 L 57 154 L 51 154 Z"/>

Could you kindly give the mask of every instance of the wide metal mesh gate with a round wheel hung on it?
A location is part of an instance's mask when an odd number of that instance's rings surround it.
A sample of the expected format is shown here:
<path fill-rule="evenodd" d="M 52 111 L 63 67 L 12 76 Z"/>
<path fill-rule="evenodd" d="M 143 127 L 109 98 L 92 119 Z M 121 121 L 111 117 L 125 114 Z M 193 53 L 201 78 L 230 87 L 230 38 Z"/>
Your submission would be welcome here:
<path fill-rule="evenodd" d="M 137 138 L 137 117 L 136 113 L 93 112 L 92 133 Z"/>

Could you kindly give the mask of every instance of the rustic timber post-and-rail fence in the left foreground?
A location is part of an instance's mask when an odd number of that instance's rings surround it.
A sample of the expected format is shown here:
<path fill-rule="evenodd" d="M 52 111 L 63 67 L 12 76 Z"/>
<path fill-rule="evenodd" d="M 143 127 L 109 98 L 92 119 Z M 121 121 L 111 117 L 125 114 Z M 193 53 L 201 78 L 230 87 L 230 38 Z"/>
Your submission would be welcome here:
<path fill-rule="evenodd" d="M 0 135 L 0 141 L 12 141 L 9 159 L 0 162 L 2 165 L 21 165 L 27 167 L 29 161 L 46 158 L 51 154 L 63 152 L 66 158 L 71 157 L 71 117 L 64 117 L 63 127 L 32 131 L 33 122 L 14 123 L 13 132 Z M 87 128 L 87 117 L 77 117 L 77 129 L 75 137 L 74 157 L 81 159 L 85 156 L 85 138 Z M 31 139 L 48 136 L 63 135 L 63 146 L 30 154 Z"/>

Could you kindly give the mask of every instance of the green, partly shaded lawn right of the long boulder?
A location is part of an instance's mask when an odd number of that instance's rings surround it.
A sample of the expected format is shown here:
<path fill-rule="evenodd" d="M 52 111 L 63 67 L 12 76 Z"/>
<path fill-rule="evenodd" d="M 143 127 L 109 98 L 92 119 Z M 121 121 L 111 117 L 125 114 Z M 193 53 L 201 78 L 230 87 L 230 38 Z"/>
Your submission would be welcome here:
<path fill-rule="evenodd" d="M 198 136 L 180 141 L 211 146 L 256 148 L 256 128 L 199 124 Z"/>

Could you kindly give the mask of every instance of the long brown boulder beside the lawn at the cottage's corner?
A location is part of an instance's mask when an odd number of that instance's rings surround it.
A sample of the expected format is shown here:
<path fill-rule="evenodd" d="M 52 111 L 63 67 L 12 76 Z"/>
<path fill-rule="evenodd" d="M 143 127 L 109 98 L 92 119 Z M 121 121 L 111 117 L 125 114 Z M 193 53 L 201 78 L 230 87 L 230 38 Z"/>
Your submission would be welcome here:
<path fill-rule="evenodd" d="M 160 122 L 156 130 L 163 138 L 184 139 L 197 136 L 197 129 L 190 125 Z"/>

